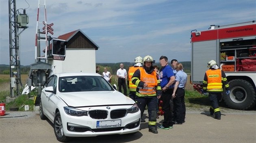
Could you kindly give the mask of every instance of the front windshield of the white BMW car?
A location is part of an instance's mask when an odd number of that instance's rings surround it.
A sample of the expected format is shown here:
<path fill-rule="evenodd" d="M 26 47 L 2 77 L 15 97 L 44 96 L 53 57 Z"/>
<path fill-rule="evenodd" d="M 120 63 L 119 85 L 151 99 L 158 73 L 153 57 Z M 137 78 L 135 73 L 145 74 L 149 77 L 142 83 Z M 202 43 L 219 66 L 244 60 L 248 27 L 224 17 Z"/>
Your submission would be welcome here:
<path fill-rule="evenodd" d="M 111 91 L 113 87 L 102 76 L 67 76 L 59 78 L 61 93 L 80 91 Z"/>

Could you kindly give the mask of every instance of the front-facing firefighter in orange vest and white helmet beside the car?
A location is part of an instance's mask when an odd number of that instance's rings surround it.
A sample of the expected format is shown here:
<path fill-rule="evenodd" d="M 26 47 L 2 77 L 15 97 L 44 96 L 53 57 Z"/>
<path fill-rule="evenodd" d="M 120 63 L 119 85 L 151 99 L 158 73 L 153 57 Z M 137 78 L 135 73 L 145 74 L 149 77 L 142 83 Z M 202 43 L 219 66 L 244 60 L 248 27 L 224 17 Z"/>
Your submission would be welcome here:
<path fill-rule="evenodd" d="M 137 69 L 132 76 L 132 83 L 137 86 L 135 101 L 143 116 L 146 105 L 148 106 L 148 128 L 149 132 L 157 134 L 156 109 L 157 100 L 161 97 L 161 86 L 156 71 L 152 64 L 151 56 L 143 58 L 143 67 Z"/>

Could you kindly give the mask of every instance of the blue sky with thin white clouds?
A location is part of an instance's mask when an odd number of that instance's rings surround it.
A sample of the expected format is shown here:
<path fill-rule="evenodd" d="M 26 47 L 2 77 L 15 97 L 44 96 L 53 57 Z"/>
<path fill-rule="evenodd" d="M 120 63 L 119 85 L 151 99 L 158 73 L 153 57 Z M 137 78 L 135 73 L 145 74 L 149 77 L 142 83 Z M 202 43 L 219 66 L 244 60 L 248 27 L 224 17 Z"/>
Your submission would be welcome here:
<path fill-rule="evenodd" d="M 20 35 L 21 65 L 35 61 L 38 0 L 26 1 L 16 0 L 16 9 L 26 8 L 29 17 Z M 157 62 L 161 55 L 191 61 L 191 30 L 256 20 L 256 0 L 46 0 L 46 11 L 47 23 L 54 23 L 49 35 L 81 29 L 100 47 L 97 63 L 133 62 L 146 55 Z M 0 0 L 0 64 L 9 64 L 8 15 L 8 0 Z M 40 11 L 39 21 L 43 18 Z"/>

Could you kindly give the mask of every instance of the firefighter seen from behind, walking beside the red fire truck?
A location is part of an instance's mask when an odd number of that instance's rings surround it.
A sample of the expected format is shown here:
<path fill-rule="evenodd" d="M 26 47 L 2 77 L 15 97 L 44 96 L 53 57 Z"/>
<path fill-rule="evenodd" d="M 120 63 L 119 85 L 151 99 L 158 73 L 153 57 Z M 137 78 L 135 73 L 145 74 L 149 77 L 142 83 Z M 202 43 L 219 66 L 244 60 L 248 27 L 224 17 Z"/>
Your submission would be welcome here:
<path fill-rule="evenodd" d="M 206 71 L 203 80 L 203 93 L 209 93 L 211 107 L 209 109 L 210 115 L 215 114 L 215 119 L 221 119 L 221 112 L 219 109 L 219 100 L 221 99 L 221 93 L 223 88 L 226 88 L 226 94 L 230 93 L 228 80 L 226 74 L 219 69 L 216 61 L 211 60 L 208 62 L 210 69 Z"/>

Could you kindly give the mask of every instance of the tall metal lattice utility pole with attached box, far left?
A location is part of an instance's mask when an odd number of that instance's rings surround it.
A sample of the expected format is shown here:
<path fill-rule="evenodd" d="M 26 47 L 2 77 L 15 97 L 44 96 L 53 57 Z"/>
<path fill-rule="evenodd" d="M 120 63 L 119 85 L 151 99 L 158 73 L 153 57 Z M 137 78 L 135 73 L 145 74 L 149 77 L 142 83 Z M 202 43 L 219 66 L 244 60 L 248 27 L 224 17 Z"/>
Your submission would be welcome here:
<path fill-rule="evenodd" d="M 28 28 L 28 16 L 26 10 L 23 14 L 17 13 L 16 0 L 9 0 L 9 50 L 10 50 L 10 90 L 11 97 L 19 96 L 22 87 L 20 77 L 20 47 L 19 36 Z M 22 29 L 18 33 L 18 29 Z"/>

